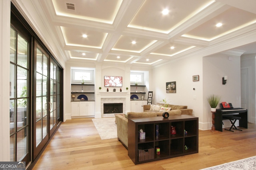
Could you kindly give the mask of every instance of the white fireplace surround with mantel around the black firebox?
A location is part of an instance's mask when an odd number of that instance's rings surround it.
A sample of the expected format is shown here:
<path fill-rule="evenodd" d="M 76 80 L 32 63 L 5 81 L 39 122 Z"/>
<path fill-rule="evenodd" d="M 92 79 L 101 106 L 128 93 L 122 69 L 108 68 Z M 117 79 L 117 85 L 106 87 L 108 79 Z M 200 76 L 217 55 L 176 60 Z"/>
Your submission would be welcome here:
<path fill-rule="evenodd" d="M 101 117 L 114 117 L 114 113 L 104 114 L 104 103 L 122 103 L 123 113 L 126 113 L 127 92 L 100 92 Z"/>

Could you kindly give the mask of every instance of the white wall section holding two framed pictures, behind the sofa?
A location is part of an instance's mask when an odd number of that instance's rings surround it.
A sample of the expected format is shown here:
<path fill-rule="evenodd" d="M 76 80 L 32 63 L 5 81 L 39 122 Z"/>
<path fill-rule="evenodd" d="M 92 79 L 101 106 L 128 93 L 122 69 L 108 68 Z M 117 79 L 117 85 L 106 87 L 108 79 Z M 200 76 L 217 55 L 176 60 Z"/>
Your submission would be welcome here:
<path fill-rule="evenodd" d="M 154 68 L 153 104 L 166 98 L 169 104 L 185 105 L 193 109 L 193 115 L 202 121 L 202 57 L 189 57 Z M 199 75 L 193 82 L 192 76 Z M 166 82 L 176 81 L 176 93 L 166 93 Z M 195 90 L 193 90 L 195 88 Z"/>

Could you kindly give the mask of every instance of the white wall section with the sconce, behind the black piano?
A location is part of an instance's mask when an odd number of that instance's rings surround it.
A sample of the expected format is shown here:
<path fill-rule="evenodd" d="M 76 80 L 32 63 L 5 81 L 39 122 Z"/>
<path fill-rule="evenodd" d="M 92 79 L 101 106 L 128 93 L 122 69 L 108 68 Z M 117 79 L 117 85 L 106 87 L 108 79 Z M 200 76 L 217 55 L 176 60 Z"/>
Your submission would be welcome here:
<path fill-rule="evenodd" d="M 212 126 L 212 114 L 207 97 L 210 94 L 221 96 L 221 102 L 232 103 L 233 107 L 241 107 L 241 80 L 240 80 L 240 56 L 216 54 L 203 57 L 203 113 L 202 129 L 210 129 Z M 225 85 L 222 77 L 228 76 Z M 217 109 L 220 106 L 217 107 Z M 223 121 L 223 127 L 230 127 L 229 121 Z"/>

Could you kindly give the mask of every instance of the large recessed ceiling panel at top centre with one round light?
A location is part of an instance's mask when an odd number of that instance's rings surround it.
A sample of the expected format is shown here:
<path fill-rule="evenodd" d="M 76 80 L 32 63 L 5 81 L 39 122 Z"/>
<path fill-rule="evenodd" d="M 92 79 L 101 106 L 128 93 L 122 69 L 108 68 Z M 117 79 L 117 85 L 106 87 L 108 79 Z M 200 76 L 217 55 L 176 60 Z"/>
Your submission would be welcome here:
<path fill-rule="evenodd" d="M 146 0 L 128 27 L 169 33 L 178 24 L 208 6 L 212 0 Z M 163 15 L 162 10 L 169 10 Z"/>

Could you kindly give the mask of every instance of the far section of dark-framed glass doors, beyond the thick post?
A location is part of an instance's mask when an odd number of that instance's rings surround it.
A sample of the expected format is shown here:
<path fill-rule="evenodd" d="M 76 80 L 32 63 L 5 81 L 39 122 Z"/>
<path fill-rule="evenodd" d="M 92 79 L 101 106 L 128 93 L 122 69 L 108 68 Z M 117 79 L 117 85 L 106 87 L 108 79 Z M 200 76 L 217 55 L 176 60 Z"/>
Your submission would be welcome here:
<path fill-rule="evenodd" d="M 33 156 L 36 158 L 62 121 L 61 68 L 54 59 L 34 41 L 33 81 Z"/>

